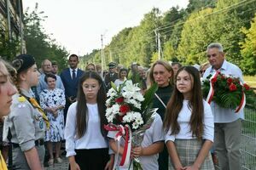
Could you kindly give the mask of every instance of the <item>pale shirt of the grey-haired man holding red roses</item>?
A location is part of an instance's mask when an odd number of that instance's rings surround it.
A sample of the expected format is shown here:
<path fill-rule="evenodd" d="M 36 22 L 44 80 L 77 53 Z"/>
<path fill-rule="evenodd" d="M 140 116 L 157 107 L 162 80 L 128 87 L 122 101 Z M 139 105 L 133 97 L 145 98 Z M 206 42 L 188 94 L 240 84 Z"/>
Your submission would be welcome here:
<path fill-rule="evenodd" d="M 240 68 L 226 60 L 224 60 L 224 63 L 222 64 L 221 68 L 218 69 L 218 71 L 227 76 L 238 77 L 240 81 L 243 82 Z M 215 74 L 215 72 L 216 71 L 212 67 L 209 67 L 204 73 L 203 78 L 206 79 L 210 74 Z M 243 110 L 235 113 L 235 110 L 219 107 L 216 103 L 214 103 L 214 101 L 211 102 L 211 108 L 214 116 L 214 122 L 225 123 L 235 122 L 239 118 L 244 119 Z"/>

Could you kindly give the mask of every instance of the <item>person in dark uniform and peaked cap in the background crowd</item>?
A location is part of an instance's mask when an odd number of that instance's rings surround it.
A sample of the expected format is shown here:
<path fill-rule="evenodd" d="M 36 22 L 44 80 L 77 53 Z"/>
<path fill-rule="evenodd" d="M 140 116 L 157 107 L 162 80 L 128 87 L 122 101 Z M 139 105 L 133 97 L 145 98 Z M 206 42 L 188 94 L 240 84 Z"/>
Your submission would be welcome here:
<path fill-rule="evenodd" d="M 107 86 L 107 90 L 111 88 L 111 83 L 114 82 L 116 79 L 119 78 L 118 73 L 116 73 L 116 64 L 114 62 L 110 62 L 108 64 L 109 72 L 105 76 L 105 84 Z"/>

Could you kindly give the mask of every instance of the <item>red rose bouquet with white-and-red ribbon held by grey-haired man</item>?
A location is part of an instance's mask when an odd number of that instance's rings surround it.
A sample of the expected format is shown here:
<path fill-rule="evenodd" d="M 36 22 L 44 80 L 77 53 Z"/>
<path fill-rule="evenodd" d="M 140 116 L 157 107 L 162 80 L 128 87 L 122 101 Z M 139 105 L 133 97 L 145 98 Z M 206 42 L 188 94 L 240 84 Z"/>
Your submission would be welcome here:
<path fill-rule="evenodd" d="M 244 105 L 255 104 L 255 94 L 246 83 L 239 78 L 226 76 L 221 73 L 209 75 L 202 82 L 202 93 L 208 103 L 214 101 L 223 108 L 240 111 Z"/>

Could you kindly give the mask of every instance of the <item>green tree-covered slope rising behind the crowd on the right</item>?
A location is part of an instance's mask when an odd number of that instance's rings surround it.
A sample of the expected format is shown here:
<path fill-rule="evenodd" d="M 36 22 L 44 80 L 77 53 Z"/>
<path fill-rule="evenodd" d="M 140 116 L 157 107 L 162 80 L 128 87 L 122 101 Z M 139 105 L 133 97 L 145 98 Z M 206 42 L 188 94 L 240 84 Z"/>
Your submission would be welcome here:
<path fill-rule="evenodd" d="M 153 8 L 139 26 L 125 28 L 112 38 L 104 48 L 106 63 L 150 66 L 158 59 L 155 33 L 160 32 L 161 59 L 202 64 L 207 61 L 207 45 L 221 42 L 226 59 L 246 75 L 255 75 L 255 9 L 255 0 L 189 0 L 188 8 L 172 7 L 165 14 Z M 101 51 L 95 52 L 88 54 L 87 62 L 101 63 Z"/>

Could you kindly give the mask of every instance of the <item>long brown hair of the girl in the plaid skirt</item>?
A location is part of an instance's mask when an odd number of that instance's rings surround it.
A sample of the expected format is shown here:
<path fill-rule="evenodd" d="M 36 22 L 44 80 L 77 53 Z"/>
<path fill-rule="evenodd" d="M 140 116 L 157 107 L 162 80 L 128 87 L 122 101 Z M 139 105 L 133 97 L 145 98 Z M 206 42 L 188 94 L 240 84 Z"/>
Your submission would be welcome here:
<path fill-rule="evenodd" d="M 192 95 L 189 99 L 189 109 L 191 110 L 191 117 L 189 121 L 190 131 L 193 136 L 196 136 L 197 139 L 201 139 L 203 133 L 203 117 L 204 117 L 204 106 L 203 98 L 201 94 L 201 81 L 199 71 L 193 66 L 183 66 L 177 71 L 177 75 L 181 71 L 187 71 L 192 82 Z M 177 79 L 177 75 L 175 80 Z M 177 134 L 180 131 L 180 126 L 177 122 L 177 117 L 179 112 L 183 108 L 183 94 L 177 90 L 177 86 L 173 89 L 172 97 L 169 100 L 166 107 L 166 117 L 164 120 L 164 129 L 166 133 L 171 128 L 171 134 Z M 185 105 L 186 106 L 186 105 Z"/>

